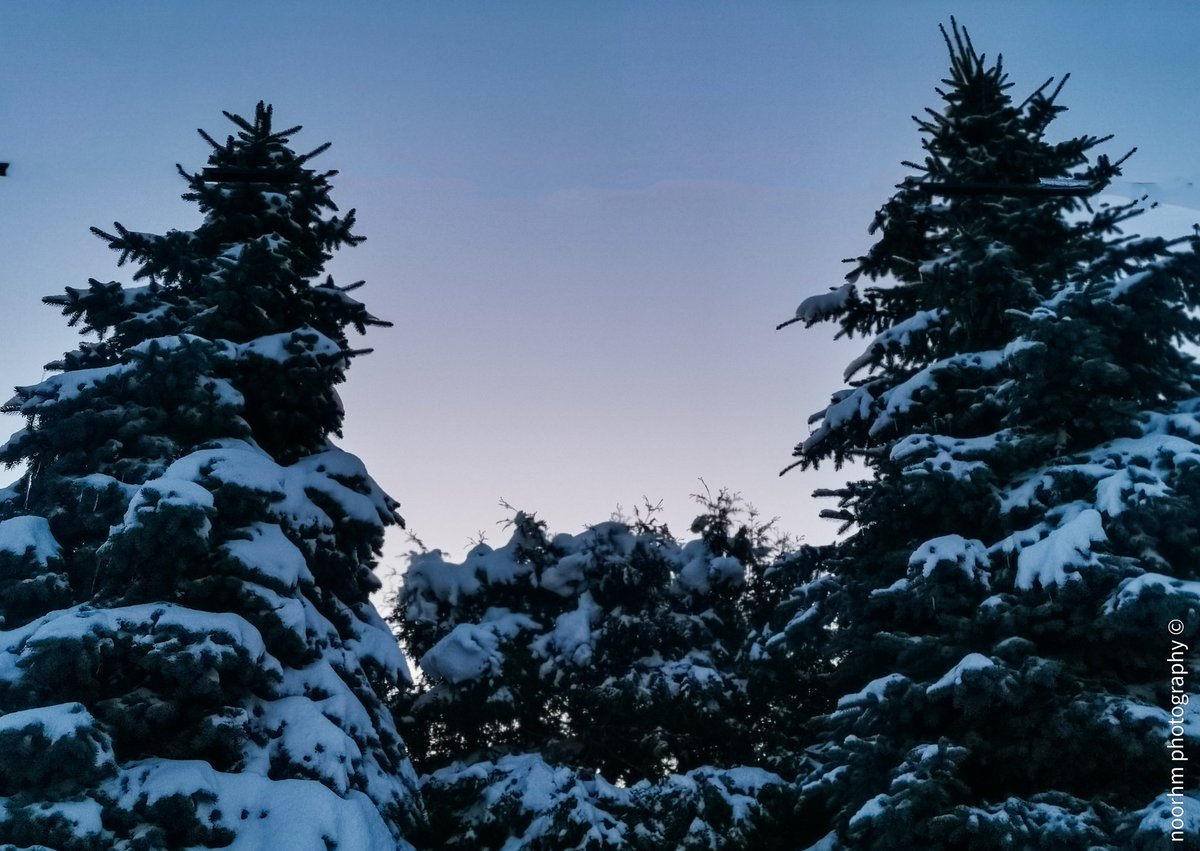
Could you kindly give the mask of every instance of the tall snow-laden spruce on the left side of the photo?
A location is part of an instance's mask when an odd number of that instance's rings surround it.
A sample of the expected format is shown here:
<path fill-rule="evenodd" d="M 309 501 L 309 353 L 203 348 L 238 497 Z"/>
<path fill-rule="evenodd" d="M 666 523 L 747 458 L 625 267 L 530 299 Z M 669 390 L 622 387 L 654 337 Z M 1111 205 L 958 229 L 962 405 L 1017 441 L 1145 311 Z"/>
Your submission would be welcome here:
<path fill-rule="evenodd" d="M 203 223 L 96 230 L 139 286 L 46 301 L 98 340 L 18 388 L 0 503 L 0 843 L 404 849 L 416 778 L 368 594 L 396 503 L 340 449 L 374 319 L 319 281 L 361 241 L 271 108 L 227 113 Z M 355 284 L 356 286 L 356 284 Z"/>

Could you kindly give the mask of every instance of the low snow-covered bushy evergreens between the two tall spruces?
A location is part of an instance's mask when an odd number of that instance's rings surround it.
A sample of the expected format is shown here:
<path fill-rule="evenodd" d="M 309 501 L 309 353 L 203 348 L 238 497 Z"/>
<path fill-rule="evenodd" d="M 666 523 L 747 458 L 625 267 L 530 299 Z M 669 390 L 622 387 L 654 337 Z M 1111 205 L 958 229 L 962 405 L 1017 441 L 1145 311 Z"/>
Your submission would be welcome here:
<path fill-rule="evenodd" d="M 752 618 L 792 587 L 791 567 L 731 495 L 704 503 L 684 545 L 653 513 L 553 537 L 517 513 L 508 544 L 461 564 L 413 556 L 396 623 L 425 677 L 397 712 L 432 847 L 786 835 L 792 763 L 764 753 L 782 733 L 758 700 L 785 675 L 755 652 Z"/>

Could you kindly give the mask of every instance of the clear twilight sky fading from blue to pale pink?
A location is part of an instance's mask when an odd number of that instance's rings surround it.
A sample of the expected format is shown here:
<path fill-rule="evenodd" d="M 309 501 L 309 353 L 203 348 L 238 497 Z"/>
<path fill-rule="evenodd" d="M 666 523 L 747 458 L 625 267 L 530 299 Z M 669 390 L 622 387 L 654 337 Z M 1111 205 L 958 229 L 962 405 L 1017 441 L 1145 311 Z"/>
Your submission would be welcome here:
<path fill-rule="evenodd" d="M 74 346 L 42 295 L 128 281 L 88 228 L 193 227 L 174 163 L 266 100 L 298 148 L 334 143 L 317 162 L 367 241 L 330 271 L 395 322 L 342 389 L 342 445 L 456 556 L 505 540 L 502 498 L 577 532 L 646 496 L 679 534 L 701 478 L 832 538 L 809 493 L 846 473 L 778 472 L 865 342 L 774 326 L 870 245 L 950 13 L 1019 97 L 1072 73 L 1055 138 L 1136 145 L 1132 181 L 1200 174 L 1192 1 L 2 10 L 0 385 Z"/>

